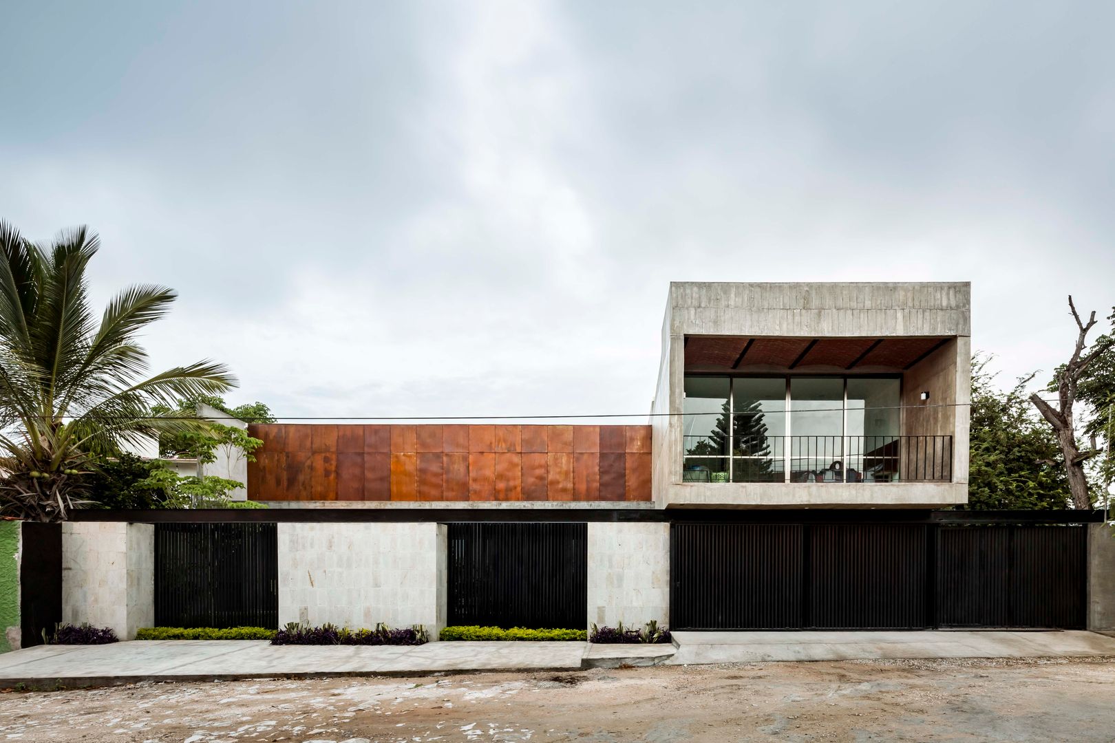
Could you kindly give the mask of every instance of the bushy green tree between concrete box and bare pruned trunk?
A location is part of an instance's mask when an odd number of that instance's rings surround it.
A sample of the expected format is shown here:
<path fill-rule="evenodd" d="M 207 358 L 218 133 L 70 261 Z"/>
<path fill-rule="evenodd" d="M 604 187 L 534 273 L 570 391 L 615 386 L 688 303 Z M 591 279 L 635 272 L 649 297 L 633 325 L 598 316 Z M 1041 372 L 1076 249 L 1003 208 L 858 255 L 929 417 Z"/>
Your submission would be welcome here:
<path fill-rule="evenodd" d="M 1060 447 L 1027 400 L 1034 375 L 1006 392 L 977 354 L 971 373 L 971 463 L 968 508 L 1059 509 L 1072 500 Z"/>

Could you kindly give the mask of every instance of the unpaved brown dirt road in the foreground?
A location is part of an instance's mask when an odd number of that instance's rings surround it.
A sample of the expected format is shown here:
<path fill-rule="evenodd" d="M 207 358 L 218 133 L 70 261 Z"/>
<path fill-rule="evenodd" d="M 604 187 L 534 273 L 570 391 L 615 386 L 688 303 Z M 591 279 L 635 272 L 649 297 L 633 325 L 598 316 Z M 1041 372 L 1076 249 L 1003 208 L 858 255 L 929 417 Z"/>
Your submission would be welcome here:
<path fill-rule="evenodd" d="M 1115 741 L 1115 658 L 8 691 L 0 741 Z"/>

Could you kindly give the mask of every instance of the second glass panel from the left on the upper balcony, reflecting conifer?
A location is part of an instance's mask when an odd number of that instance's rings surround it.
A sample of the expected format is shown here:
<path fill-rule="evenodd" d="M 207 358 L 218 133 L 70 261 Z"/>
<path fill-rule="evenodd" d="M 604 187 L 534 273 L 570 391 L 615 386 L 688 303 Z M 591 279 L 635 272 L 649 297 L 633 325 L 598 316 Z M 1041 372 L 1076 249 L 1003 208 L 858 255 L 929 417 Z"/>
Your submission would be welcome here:
<path fill-rule="evenodd" d="M 731 383 L 733 482 L 786 479 L 786 380 L 736 379 Z"/>

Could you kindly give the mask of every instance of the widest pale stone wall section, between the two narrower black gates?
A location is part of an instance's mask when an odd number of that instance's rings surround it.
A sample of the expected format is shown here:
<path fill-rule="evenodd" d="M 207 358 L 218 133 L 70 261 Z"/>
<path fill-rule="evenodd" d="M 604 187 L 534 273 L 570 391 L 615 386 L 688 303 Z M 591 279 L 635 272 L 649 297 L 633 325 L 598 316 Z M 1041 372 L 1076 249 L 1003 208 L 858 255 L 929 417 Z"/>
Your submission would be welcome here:
<path fill-rule="evenodd" d="M 445 626 L 446 528 L 279 524 L 279 625 Z"/>

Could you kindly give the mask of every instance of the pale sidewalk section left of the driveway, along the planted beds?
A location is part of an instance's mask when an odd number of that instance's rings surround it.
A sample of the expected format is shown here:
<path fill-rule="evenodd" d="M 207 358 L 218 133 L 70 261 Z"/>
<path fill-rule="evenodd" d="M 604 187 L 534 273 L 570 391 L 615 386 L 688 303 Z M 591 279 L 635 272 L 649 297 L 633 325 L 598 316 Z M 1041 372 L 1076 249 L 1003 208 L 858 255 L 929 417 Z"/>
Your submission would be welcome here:
<path fill-rule="evenodd" d="M 0 687 L 101 686 L 136 681 L 269 676 L 409 676 L 469 671 L 580 671 L 655 665 L 672 645 L 477 642 L 271 645 L 266 641 L 133 641 L 39 645 L 0 655 Z"/>

